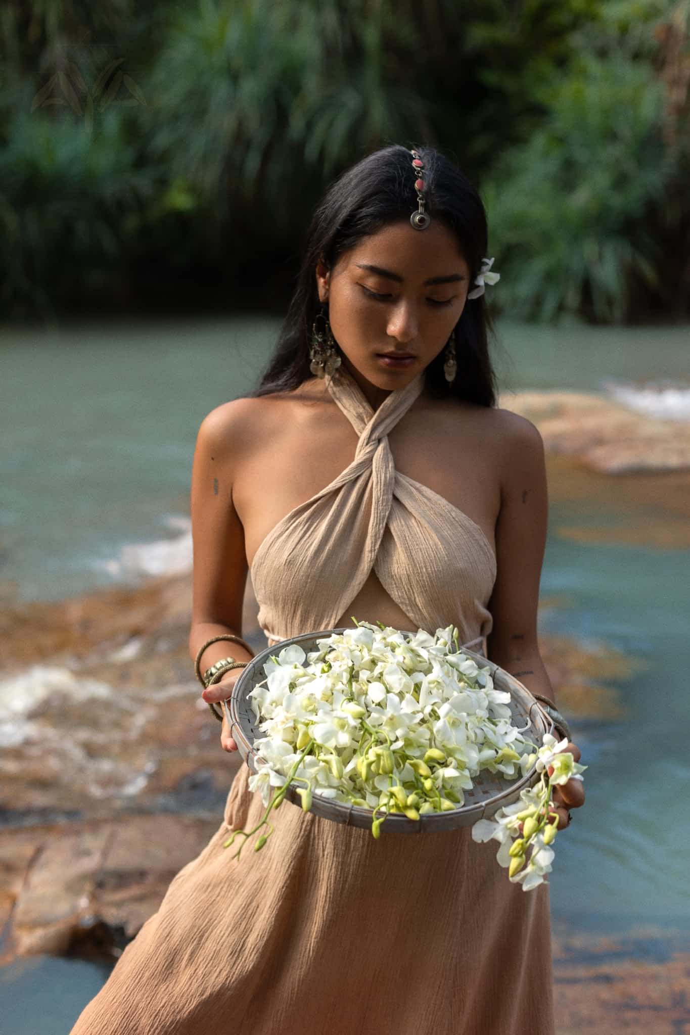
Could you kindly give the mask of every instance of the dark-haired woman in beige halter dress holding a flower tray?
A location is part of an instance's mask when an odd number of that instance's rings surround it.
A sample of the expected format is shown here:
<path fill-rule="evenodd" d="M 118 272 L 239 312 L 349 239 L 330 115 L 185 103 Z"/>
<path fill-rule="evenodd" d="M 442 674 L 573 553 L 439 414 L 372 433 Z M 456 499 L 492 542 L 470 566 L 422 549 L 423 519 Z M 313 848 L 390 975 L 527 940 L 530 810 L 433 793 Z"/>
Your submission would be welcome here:
<path fill-rule="evenodd" d="M 250 570 L 270 644 L 352 616 L 453 623 L 553 700 L 536 632 L 543 444 L 496 407 L 486 234 L 477 191 L 431 148 L 384 148 L 328 191 L 259 389 L 199 432 L 189 650 L 207 672 L 251 656 Z M 218 672 L 209 703 L 241 668 Z M 552 1035 L 548 885 L 523 892 L 470 827 L 374 840 L 292 805 L 234 860 L 229 830 L 263 811 L 248 775 L 73 1035 Z M 563 828 L 581 782 L 554 800 Z"/>

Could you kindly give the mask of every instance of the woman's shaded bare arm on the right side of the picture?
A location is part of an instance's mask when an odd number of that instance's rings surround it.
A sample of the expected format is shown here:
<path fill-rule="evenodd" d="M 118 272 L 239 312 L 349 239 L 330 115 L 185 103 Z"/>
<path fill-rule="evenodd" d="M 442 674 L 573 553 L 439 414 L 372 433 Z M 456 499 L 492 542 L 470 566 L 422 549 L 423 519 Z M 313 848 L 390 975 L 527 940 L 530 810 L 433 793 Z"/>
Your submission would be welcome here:
<path fill-rule="evenodd" d="M 546 548 L 548 492 L 544 443 L 539 430 L 519 414 L 501 414 L 501 508 L 496 525 L 497 576 L 488 610 L 493 620 L 486 639 L 490 661 L 519 679 L 533 693 L 557 704 L 539 653 L 537 608 Z M 580 750 L 569 743 L 575 762 Z M 568 809 L 584 803 L 581 780 L 553 789 L 559 829 L 568 825 Z"/>

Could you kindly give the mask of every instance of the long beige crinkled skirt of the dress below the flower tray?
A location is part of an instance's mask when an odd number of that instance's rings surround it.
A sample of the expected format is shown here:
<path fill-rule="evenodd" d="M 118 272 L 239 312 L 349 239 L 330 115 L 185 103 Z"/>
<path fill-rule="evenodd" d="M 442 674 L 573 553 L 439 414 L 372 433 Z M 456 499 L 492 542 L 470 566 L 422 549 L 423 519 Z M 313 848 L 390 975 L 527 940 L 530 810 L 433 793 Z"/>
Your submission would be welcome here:
<path fill-rule="evenodd" d="M 289 801 L 234 859 L 248 776 L 71 1035 L 553 1035 L 548 885 L 471 827 L 374 839 Z"/>

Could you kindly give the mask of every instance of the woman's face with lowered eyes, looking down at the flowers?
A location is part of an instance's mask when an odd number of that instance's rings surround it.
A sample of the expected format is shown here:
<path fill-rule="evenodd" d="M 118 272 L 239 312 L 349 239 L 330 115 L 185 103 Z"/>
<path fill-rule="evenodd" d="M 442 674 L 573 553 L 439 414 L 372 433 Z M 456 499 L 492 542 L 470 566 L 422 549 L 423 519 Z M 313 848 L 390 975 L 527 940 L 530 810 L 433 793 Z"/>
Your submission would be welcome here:
<path fill-rule="evenodd" d="M 380 402 L 382 391 L 404 387 L 445 347 L 464 307 L 470 267 L 443 224 L 415 230 L 404 219 L 361 240 L 332 270 L 320 263 L 317 285 L 343 365 Z M 383 353 L 414 358 L 395 367 Z"/>

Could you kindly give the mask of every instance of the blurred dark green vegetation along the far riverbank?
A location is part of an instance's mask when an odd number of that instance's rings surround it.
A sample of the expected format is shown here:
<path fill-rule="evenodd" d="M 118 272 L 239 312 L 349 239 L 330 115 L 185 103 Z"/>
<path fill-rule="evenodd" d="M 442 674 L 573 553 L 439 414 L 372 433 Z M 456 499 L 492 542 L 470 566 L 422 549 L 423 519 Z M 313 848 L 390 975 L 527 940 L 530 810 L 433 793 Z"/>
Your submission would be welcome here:
<path fill-rule="evenodd" d="M 386 143 L 478 184 L 500 309 L 690 314 L 690 0 L 4 0 L 0 313 L 279 310 Z"/>

